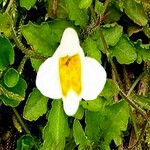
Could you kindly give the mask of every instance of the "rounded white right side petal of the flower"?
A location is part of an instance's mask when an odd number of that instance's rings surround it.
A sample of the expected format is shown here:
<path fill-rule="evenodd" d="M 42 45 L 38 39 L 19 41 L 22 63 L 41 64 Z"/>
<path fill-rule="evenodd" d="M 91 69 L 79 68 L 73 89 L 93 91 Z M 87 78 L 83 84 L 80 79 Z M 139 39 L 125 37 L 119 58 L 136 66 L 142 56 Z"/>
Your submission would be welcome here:
<path fill-rule="evenodd" d="M 85 100 L 95 99 L 105 85 L 106 71 L 98 61 L 85 57 L 83 59 L 82 80 L 82 98 Z"/>

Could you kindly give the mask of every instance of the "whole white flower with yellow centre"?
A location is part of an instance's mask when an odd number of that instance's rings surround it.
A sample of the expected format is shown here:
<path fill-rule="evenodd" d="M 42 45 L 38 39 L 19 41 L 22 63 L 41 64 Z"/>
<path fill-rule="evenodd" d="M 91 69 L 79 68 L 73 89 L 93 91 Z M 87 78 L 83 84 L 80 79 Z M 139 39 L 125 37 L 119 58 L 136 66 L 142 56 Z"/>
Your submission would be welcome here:
<path fill-rule="evenodd" d="M 93 58 L 85 57 L 76 31 L 67 28 L 54 55 L 39 68 L 36 86 L 43 95 L 63 100 L 65 113 L 76 113 L 79 102 L 93 100 L 106 82 L 104 68 Z"/>

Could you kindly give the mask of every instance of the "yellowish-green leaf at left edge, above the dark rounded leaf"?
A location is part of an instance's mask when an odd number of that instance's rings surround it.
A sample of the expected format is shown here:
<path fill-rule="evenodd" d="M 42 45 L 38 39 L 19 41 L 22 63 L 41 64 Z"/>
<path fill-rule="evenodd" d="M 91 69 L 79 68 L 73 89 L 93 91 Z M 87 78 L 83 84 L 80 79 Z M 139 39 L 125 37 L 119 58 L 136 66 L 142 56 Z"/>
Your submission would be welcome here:
<path fill-rule="evenodd" d="M 11 35 L 12 22 L 12 18 L 9 16 L 9 14 L 0 13 L 0 32 L 4 33 L 6 37 L 9 37 Z"/>

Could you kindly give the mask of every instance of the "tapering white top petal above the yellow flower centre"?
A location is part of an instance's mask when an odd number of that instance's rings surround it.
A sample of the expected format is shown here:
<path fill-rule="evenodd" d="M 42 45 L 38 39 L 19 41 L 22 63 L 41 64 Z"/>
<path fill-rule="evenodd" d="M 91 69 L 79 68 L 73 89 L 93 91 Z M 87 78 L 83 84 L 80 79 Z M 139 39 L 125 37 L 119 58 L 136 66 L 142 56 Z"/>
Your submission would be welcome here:
<path fill-rule="evenodd" d="M 73 56 L 75 54 L 84 56 L 83 49 L 80 47 L 77 32 L 73 28 L 65 29 L 59 47 L 54 53 L 54 57 Z"/>

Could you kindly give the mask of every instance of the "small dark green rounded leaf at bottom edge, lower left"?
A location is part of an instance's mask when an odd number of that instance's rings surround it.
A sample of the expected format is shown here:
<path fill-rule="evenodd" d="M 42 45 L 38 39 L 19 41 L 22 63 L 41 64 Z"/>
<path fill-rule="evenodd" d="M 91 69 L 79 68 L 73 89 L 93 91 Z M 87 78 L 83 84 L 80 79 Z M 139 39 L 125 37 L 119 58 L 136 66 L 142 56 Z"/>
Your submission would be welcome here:
<path fill-rule="evenodd" d="M 34 139 L 30 135 L 23 135 L 17 140 L 16 150 L 31 150 L 34 146 Z"/>

